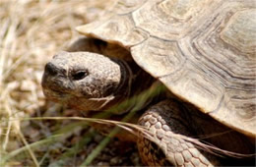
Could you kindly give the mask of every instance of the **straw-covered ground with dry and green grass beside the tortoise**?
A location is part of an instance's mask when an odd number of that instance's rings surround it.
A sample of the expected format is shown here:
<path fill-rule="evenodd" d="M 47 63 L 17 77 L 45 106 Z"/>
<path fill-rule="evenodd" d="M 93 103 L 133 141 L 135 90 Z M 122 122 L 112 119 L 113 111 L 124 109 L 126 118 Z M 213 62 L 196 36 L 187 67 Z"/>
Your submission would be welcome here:
<path fill-rule="evenodd" d="M 41 119 L 83 117 L 45 100 L 40 86 L 43 68 L 54 53 L 80 36 L 77 26 L 104 15 L 112 2 L 0 1 L 1 165 L 142 165 L 135 143 L 118 139 L 107 143 L 85 121 Z M 98 147 L 102 147 L 99 152 Z"/>

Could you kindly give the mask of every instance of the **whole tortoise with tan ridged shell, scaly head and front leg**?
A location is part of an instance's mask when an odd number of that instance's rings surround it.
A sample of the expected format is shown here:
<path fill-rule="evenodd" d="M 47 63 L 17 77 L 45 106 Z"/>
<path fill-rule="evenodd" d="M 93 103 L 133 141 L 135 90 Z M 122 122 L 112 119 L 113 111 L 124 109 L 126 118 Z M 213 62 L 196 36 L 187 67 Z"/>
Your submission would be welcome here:
<path fill-rule="evenodd" d="M 155 139 L 138 139 L 143 162 L 220 165 L 191 139 L 254 153 L 255 18 L 254 0 L 120 0 L 46 64 L 43 92 L 103 111 L 160 82 L 165 95 L 149 99 L 139 119 Z"/>

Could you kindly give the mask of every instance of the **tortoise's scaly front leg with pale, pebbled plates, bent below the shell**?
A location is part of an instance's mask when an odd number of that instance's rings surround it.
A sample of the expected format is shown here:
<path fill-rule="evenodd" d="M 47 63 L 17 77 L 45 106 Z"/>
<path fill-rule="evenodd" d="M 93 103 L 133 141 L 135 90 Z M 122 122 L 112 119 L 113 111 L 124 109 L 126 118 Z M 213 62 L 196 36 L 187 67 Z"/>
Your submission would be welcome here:
<path fill-rule="evenodd" d="M 165 100 L 151 107 L 139 120 L 156 142 L 140 137 L 139 152 L 145 164 L 150 166 L 213 166 L 217 159 L 199 149 L 186 138 L 192 137 L 182 108 L 172 100 Z"/>

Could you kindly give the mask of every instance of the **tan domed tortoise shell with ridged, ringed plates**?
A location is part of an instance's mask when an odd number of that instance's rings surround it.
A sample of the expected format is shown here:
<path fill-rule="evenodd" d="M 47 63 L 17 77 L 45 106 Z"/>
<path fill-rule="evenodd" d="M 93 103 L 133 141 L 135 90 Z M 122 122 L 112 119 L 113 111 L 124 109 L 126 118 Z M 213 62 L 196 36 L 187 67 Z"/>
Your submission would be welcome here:
<path fill-rule="evenodd" d="M 118 43 L 170 91 L 256 137 L 256 1 L 127 0 L 79 27 Z"/>

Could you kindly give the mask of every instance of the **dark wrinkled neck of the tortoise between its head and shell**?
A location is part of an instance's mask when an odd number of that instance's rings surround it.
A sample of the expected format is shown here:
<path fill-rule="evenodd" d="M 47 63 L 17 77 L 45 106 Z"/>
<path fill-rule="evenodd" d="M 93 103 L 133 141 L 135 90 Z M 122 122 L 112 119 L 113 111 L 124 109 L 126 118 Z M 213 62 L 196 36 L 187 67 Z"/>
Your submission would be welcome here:
<path fill-rule="evenodd" d="M 113 61 L 120 66 L 121 80 L 115 89 L 114 97 L 104 107 L 104 110 L 109 110 L 115 114 L 123 114 L 129 112 L 139 102 L 129 99 L 147 90 L 156 80 L 143 71 L 134 61 L 127 62 L 120 59 Z M 146 101 L 148 101 L 146 102 L 148 104 L 152 99 L 149 98 Z"/>

